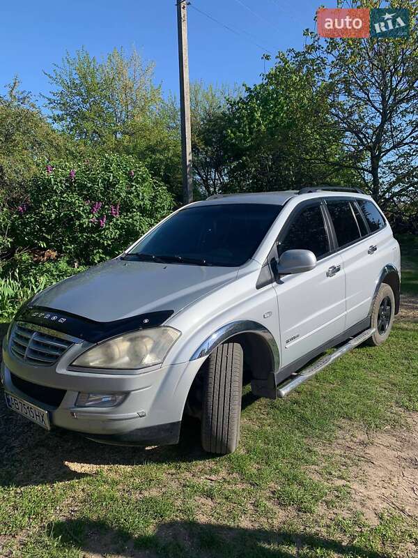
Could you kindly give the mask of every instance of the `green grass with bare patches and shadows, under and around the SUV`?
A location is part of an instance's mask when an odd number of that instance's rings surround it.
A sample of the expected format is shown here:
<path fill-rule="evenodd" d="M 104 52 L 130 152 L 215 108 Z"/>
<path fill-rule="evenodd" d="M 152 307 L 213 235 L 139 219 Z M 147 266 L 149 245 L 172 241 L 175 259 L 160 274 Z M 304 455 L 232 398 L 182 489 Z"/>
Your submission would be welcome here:
<path fill-rule="evenodd" d="M 353 507 L 356 463 L 333 445 L 341 429 L 373 437 L 418 412 L 418 324 L 397 322 L 385 345 L 355 349 L 285 400 L 246 389 L 243 401 L 240 446 L 222 458 L 199 449 L 194 421 L 178 446 L 118 448 L 48 434 L 1 404 L 0 556 L 406 558 L 418 548 L 411 519 L 388 509 L 372 525 Z"/>

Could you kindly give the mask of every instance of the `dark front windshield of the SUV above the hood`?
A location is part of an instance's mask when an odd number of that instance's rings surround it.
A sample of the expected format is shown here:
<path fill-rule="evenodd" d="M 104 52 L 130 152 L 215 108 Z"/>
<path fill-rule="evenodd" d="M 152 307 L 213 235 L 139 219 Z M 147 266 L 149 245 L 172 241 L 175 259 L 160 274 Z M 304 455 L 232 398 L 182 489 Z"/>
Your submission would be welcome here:
<path fill-rule="evenodd" d="M 150 232 L 125 259 L 238 267 L 254 255 L 280 210 L 267 204 L 192 206 Z"/>

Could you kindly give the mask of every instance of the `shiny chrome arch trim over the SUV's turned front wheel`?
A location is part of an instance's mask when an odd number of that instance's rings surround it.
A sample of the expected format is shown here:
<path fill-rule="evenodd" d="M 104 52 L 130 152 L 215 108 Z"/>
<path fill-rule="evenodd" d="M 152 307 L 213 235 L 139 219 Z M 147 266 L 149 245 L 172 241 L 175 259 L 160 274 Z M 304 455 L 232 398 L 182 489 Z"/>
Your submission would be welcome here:
<path fill-rule="evenodd" d="M 217 331 L 212 333 L 212 335 L 204 340 L 201 346 L 196 349 L 190 360 L 195 361 L 196 359 L 201 359 L 203 356 L 208 356 L 218 345 L 221 345 L 221 343 L 234 335 L 238 335 L 238 333 L 256 333 L 256 335 L 260 335 L 264 338 L 272 352 L 274 370 L 279 370 L 279 347 L 277 347 L 276 340 L 272 333 L 261 324 L 258 324 L 258 322 L 252 322 L 247 319 L 231 322 L 231 324 L 226 324 L 217 329 Z"/>

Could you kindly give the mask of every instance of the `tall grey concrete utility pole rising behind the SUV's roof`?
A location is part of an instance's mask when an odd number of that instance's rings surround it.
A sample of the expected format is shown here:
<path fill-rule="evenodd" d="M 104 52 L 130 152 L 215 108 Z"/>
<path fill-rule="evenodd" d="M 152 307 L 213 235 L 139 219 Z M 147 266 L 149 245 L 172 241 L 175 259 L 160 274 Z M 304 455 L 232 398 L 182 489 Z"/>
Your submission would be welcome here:
<path fill-rule="evenodd" d="M 193 201 L 189 51 L 187 46 L 187 3 L 187 0 L 177 1 L 178 64 L 180 69 L 181 158 L 183 167 L 184 204 L 189 204 Z"/>

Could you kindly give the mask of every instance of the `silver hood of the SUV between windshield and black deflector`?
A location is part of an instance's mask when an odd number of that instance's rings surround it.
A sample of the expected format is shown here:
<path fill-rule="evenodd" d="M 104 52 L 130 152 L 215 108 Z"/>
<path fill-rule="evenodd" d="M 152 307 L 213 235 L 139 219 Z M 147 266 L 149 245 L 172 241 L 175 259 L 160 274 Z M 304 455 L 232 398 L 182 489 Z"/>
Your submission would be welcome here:
<path fill-rule="evenodd" d="M 173 310 L 236 278 L 238 268 L 157 264 L 111 259 L 65 279 L 31 301 L 93 319 L 116 319 Z"/>

